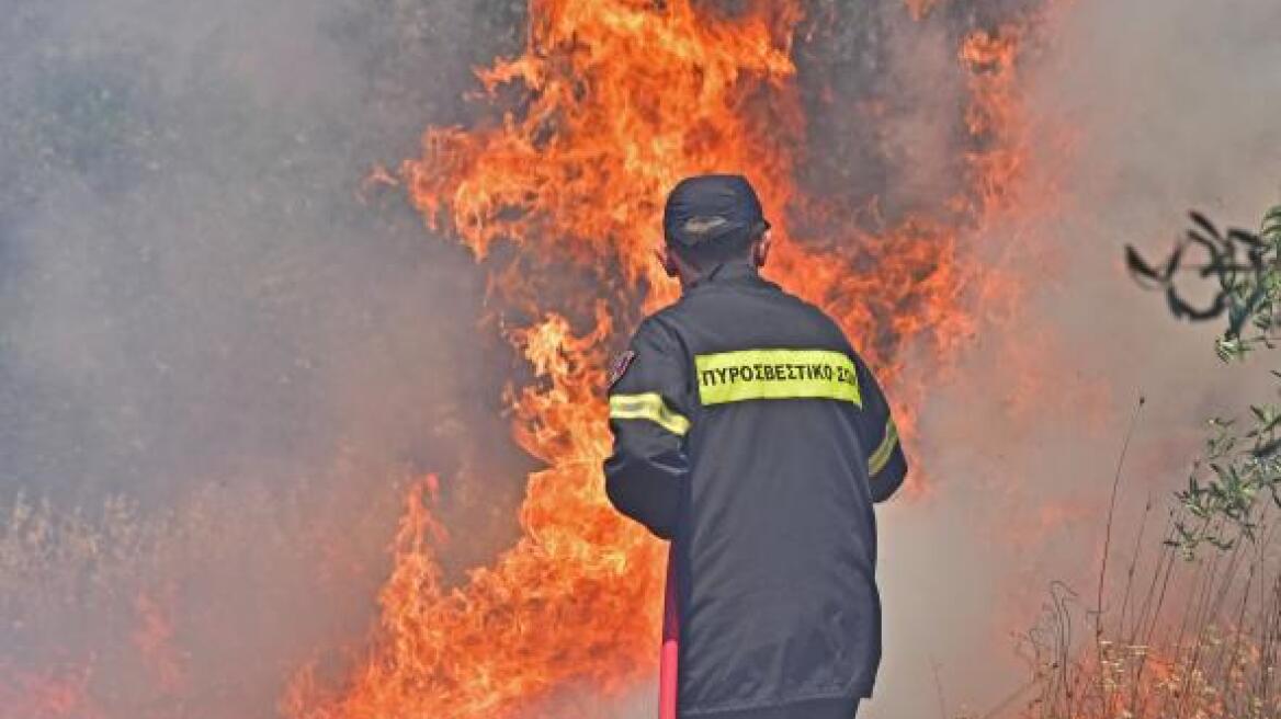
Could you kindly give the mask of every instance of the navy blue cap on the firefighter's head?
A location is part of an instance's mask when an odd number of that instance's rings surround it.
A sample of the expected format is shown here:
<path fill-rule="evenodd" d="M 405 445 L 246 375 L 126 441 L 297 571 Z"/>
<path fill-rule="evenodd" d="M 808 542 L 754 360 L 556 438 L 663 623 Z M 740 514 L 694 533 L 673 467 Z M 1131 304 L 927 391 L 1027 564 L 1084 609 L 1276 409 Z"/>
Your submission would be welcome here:
<path fill-rule="evenodd" d="M 697 175 L 667 196 L 662 232 L 667 244 L 696 247 L 769 229 L 761 200 L 742 175 Z"/>

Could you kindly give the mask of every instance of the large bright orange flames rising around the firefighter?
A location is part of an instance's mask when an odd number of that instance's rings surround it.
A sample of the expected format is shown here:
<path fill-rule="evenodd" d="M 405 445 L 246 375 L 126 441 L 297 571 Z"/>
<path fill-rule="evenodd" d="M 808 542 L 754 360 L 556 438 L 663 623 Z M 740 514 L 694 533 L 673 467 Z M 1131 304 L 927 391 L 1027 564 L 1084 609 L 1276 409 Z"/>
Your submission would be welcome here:
<path fill-rule="evenodd" d="M 920 14 L 931 4 L 910 3 Z M 544 715 L 559 687 L 610 696 L 651 676 L 662 551 L 606 503 L 601 367 L 638 304 L 675 297 L 651 249 L 681 177 L 748 174 L 779 241 L 769 274 L 831 312 L 890 384 L 904 342 L 951 353 L 974 326 L 966 293 L 990 281 L 958 242 L 1018 182 L 1013 28 L 958 49 L 971 189 L 872 235 L 794 186 L 806 147 L 797 0 L 735 17 L 689 0 L 532 0 L 530 18 L 525 52 L 479 72 L 485 97 L 516 93 L 519 107 L 488 128 L 430 129 L 400 175 L 430 226 L 478 258 L 512 248 L 492 287 L 523 322 L 510 336 L 537 375 L 511 395 L 515 438 L 547 468 L 529 477 L 520 540 L 457 589 L 442 586 L 433 554 L 445 536 L 425 504 L 436 481 L 409 498 L 368 660 L 336 693 L 301 677 L 284 702 L 297 719 Z M 847 229 L 793 234 L 797 217 L 820 215 L 808 224 Z M 575 281 L 592 292 L 565 289 Z"/>

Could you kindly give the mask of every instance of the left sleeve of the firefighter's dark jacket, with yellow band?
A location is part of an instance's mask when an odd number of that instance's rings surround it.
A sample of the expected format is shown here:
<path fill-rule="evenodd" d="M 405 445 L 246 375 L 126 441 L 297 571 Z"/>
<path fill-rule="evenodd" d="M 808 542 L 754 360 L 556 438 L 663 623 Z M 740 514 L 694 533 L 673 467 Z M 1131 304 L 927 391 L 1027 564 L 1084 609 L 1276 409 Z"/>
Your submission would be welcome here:
<path fill-rule="evenodd" d="M 605 491 L 619 512 L 662 539 L 673 536 L 689 475 L 687 365 L 671 331 L 646 320 L 608 390 L 614 453 L 605 461 Z"/>

